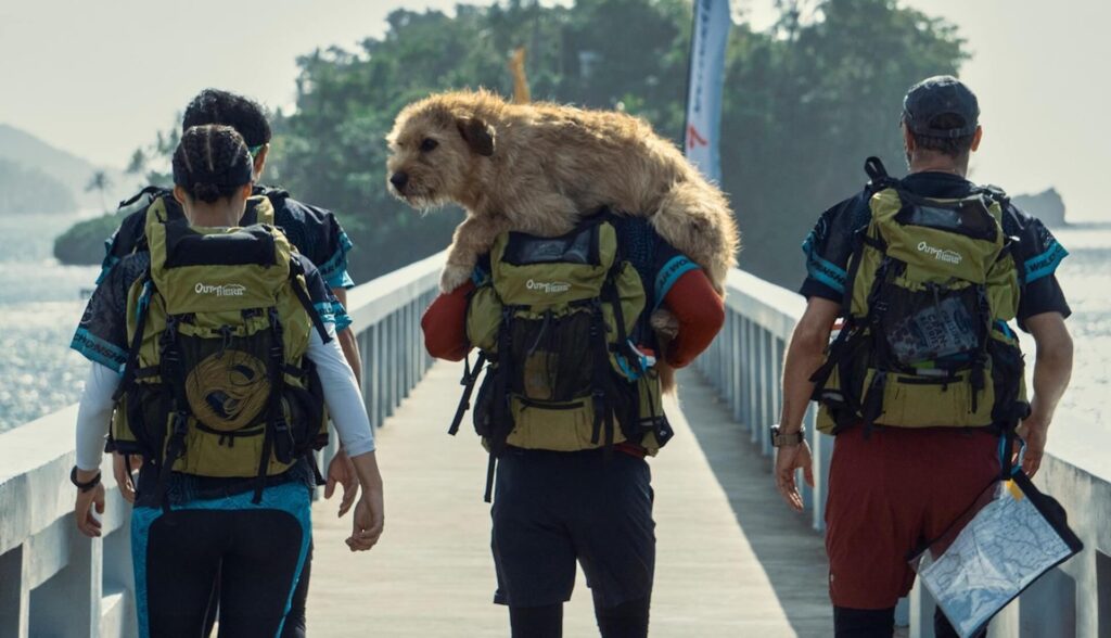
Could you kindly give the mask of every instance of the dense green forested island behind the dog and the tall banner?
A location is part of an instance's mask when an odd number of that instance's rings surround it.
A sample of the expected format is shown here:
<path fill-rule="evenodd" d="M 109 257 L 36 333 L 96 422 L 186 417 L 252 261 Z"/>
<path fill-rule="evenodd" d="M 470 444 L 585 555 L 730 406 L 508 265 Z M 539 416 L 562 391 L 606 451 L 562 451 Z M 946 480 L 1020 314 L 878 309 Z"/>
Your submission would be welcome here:
<path fill-rule="evenodd" d="M 744 233 L 741 267 L 795 287 L 799 245 L 824 208 L 863 185 L 864 158 L 903 168 L 898 122 L 907 88 L 955 73 L 965 52 L 953 27 L 895 0 L 778 6 L 772 29 L 732 31 L 722 187 Z M 810 9 L 800 14 L 800 6 Z M 264 181 L 336 210 L 356 243 L 352 276 L 366 281 L 444 248 L 461 219 L 458 210 L 421 215 L 386 189 L 383 138 L 404 104 L 468 87 L 510 96 L 507 62 L 524 47 L 534 100 L 622 108 L 679 140 L 690 23 L 688 0 L 570 8 L 508 0 L 459 6 L 454 17 L 396 11 L 386 34 L 358 50 L 322 48 L 299 60 L 296 109 L 274 113 Z M 133 172 L 150 169 L 173 139 L 159 133 L 137 151 Z"/>

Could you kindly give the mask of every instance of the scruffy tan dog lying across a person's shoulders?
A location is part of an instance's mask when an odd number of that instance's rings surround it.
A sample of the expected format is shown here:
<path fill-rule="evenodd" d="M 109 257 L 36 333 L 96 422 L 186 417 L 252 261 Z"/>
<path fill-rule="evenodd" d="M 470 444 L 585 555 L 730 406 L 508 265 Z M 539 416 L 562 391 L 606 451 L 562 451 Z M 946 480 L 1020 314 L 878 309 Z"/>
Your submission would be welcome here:
<path fill-rule="evenodd" d="M 462 91 L 409 104 L 387 140 L 397 196 L 417 208 L 467 209 L 440 278 L 446 292 L 502 232 L 563 235 L 602 206 L 648 217 L 724 292 L 739 243 L 729 202 L 639 118 Z M 653 326 L 667 331 L 655 317 Z"/>

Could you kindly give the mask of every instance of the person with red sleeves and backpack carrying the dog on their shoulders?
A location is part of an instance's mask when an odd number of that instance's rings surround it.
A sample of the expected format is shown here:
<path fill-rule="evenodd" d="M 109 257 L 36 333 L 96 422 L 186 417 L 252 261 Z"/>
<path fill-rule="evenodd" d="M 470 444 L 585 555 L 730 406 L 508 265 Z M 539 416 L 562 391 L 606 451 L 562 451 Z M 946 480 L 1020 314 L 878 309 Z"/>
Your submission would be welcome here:
<path fill-rule="evenodd" d="M 660 307 L 678 325 L 665 345 L 648 320 Z M 478 347 L 492 362 L 474 426 L 491 453 L 494 601 L 509 606 L 514 637 L 562 635 L 575 561 L 603 638 L 648 635 L 645 456 L 671 437 L 654 360 L 685 366 L 723 320 L 698 266 L 643 218 L 608 211 L 557 238 L 500 236 L 472 281 L 426 312 L 433 357 L 459 361 Z"/>

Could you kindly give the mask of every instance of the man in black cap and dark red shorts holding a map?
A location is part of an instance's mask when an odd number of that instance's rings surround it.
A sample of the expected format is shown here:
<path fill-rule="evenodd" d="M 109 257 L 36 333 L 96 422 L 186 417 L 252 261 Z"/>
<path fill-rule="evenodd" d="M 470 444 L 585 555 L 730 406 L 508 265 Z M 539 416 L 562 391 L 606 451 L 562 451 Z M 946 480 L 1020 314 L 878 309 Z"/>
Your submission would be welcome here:
<path fill-rule="evenodd" d="M 983 189 L 965 179 L 969 156 L 979 148 L 983 133 L 979 116 L 975 96 L 955 78 L 939 76 L 911 87 L 901 118 L 909 175 L 899 180 L 873 175 L 862 192 L 822 213 L 803 243 L 808 277 L 801 293 L 808 305 L 788 348 L 783 412 L 773 430 L 775 484 L 794 509 L 802 508 L 795 470 L 802 469 L 805 480 L 813 482 L 810 449 L 799 436 L 814 391 L 811 376 L 823 367 L 834 321 L 850 307 L 855 280 L 850 265 L 860 242 L 874 242 L 862 230 L 873 221 L 873 196 L 882 189 L 893 188 L 904 201 L 908 196 L 960 200 L 982 192 L 1001 207 L 1001 225 L 1012 241 L 1021 291 L 1018 322 L 1033 335 L 1038 346 L 1031 411 L 1018 430 L 1028 446 L 1022 469 L 1031 476 L 1038 470 L 1053 410 L 1072 368 L 1072 341 L 1064 326 L 1070 310 L 1054 277 L 1068 252 L 1039 220 L 1019 211 L 1002 191 Z M 914 246 L 929 249 L 924 240 Z M 825 547 L 839 637 L 892 635 L 894 606 L 914 579 L 908 555 L 923 540 L 941 536 L 1001 470 L 999 429 L 910 427 L 909 422 L 892 422 L 909 419 L 908 412 L 894 413 L 902 416 L 887 413 L 879 420 L 884 425 L 850 420 L 834 429 Z M 995 413 L 989 418 L 994 419 Z M 934 617 L 934 629 L 939 637 L 957 635 L 940 614 Z"/>

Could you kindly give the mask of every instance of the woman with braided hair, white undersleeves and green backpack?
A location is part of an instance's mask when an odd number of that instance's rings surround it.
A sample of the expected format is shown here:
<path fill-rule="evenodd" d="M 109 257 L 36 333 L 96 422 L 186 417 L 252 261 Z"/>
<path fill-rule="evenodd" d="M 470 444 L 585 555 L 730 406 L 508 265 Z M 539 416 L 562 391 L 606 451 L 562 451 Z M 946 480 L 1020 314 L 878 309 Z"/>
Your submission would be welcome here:
<path fill-rule="evenodd" d="M 273 227 L 238 228 L 249 206 L 268 206 L 251 198 L 242 137 L 189 129 L 173 179 L 184 217 L 151 207 L 150 250 L 112 267 L 78 329 L 92 366 L 74 516 L 100 536 L 91 510 L 104 511 L 108 435 L 110 448 L 143 457 L 131 525 L 140 636 L 201 635 L 218 580 L 220 636 L 274 637 L 310 539 L 321 411 L 309 390 L 322 388 L 362 487 L 352 551 L 383 527 L 373 435 L 336 339 L 346 317 L 320 273 Z"/>

